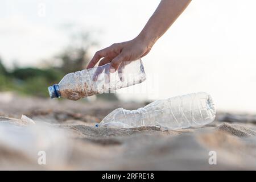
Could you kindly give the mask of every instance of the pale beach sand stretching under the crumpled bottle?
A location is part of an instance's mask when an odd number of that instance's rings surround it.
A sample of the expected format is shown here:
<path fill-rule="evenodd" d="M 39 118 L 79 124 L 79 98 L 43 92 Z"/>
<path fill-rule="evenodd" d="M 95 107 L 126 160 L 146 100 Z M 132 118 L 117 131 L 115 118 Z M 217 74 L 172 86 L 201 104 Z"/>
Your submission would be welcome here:
<path fill-rule="evenodd" d="M 176 131 L 94 127 L 117 107 L 143 105 L 16 96 L 0 101 L 0 169 L 256 169 L 253 115 L 217 113 L 207 126 Z M 46 165 L 38 163 L 39 151 L 46 152 Z M 209 164 L 210 151 L 217 164 Z"/>

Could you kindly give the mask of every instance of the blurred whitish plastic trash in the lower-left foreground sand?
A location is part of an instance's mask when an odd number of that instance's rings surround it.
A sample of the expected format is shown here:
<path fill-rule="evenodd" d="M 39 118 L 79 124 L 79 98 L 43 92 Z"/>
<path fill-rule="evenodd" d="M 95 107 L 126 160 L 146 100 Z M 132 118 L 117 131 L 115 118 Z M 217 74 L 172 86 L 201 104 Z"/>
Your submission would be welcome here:
<path fill-rule="evenodd" d="M 19 120 L 30 120 L 23 116 Z M 18 120 L 18 119 L 17 119 Z M 32 120 L 32 119 L 31 119 Z M 22 122 L 22 121 L 20 121 Z M 31 121 L 30 121 L 31 122 Z M 43 122 L 37 122 L 35 125 L 14 125 L 12 122 L 0 122 L 0 146 L 2 151 L 7 151 L 10 155 L 15 155 L 16 160 L 2 160 L 3 166 L 6 164 L 8 169 L 26 169 L 26 164 L 36 165 L 44 169 L 63 169 L 68 165 L 69 157 L 72 154 L 73 144 L 68 138 L 69 134 L 64 129 L 51 127 L 51 125 Z M 6 154 L 7 154 L 6 153 Z M 45 164 L 39 165 L 42 162 L 40 156 L 46 156 Z M 25 167 L 18 166 L 21 156 L 27 163 Z M 30 169 L 30 168 L 28 168 Z M 34 168 L 33 168 L 34 169 Z"/>

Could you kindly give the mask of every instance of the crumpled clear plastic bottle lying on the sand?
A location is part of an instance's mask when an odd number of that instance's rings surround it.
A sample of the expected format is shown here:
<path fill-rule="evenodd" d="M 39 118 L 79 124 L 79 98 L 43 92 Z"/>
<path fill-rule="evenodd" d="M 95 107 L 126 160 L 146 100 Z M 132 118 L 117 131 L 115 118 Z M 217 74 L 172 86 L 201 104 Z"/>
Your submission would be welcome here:
<path fill-rule="evenodd" d="M 115 109 L 96 127 L 161 126 L 184 129 L 206 125 L 214 120 L 215 114 L 212 97 L 199 92 L 157 100 L 137 110 Z"/>

